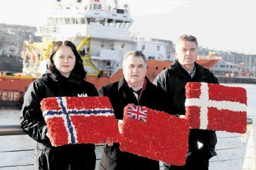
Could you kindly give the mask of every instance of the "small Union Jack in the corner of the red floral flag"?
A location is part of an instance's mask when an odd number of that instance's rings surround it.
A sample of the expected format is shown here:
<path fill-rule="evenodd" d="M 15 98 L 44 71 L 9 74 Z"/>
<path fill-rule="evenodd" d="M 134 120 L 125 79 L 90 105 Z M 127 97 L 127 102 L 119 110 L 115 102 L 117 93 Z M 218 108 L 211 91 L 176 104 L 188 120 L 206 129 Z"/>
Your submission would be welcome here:
<path fill-rule="evenodd" d="M 127 116 L 129 118 L 146 122 L 146 114 L 146 109 L 141 106 L 128 106 Z"/>

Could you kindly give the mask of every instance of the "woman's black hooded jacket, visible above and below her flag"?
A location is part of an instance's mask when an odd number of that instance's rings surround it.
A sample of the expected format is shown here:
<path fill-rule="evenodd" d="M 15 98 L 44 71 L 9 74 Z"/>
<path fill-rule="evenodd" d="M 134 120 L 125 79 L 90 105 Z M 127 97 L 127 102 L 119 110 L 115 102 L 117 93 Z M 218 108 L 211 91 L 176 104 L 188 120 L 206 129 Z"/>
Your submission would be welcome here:
<path fill-rule="evenodd" d="M 75 74 L 44 74 L 28 86 L 21 109 L 21 128 L 36 140 L 35 169 L 95 169 L 95 145 L 63 145 L 52 147 L 46 136 L 46 122 L 40 102 L 57 96 L 98 96 L 95 86 Z"/>

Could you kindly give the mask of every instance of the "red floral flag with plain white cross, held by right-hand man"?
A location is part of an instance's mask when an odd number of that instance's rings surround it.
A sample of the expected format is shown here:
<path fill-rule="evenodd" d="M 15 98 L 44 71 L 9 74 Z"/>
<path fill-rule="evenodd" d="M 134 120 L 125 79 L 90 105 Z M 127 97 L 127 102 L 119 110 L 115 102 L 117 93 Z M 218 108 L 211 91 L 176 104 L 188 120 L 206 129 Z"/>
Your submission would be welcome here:
<path fill-rule="evenodd" d="M 247 94 L 242 87 L 189 82 L 185 106 L 193 129 L 246 132 Z"/>

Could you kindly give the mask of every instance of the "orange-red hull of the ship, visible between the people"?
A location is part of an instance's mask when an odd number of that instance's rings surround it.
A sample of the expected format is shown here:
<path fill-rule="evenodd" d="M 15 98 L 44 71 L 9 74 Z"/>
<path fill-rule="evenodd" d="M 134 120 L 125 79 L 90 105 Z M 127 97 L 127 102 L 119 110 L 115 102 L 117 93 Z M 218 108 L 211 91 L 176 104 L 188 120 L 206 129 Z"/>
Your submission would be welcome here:
<path fill-rule="evenodd" d="M 213 69 L 218 61 L 218 59 L 197 60 L 198 64 L 202 64 L 208 69 Z M 146 77 L 148 77 L 150 81 L 153 81 L 162 70 L 169 68 L 171 63 L 171 61 L 147 60 Z M 122 75 L 122 69 L 118 69 L 117 72 L 112 74 L 110 77 L 87 76 L 86 80 L 95 84 L 96 88 L 99 89 L 100 86 L 118 81 Z M 29 84 L 31 84 L 34 79 L 36 79 L 36 77 L 1 75 L 0 106 L 21 106 L 23 103 L 23 95 L 25 94 L 26 89 L 28 89 Z"/>

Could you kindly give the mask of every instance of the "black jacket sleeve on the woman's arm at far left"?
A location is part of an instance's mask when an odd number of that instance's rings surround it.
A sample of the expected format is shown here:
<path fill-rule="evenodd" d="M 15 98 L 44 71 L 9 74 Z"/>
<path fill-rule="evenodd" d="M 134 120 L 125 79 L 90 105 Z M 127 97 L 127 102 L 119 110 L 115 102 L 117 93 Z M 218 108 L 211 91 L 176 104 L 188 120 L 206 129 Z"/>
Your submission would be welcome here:
<path fill-rule="evenodd" d="M 41 111 L 40 102 L 43 98 L 41 94 L 43 93 L 39 81 L 33 81 L 28 86 L 24 96 L 24 103 L 21 108 L 21 128 L 33 140 L 50 147 L 50 140 L 46 136 L 47 126 Z"/>

